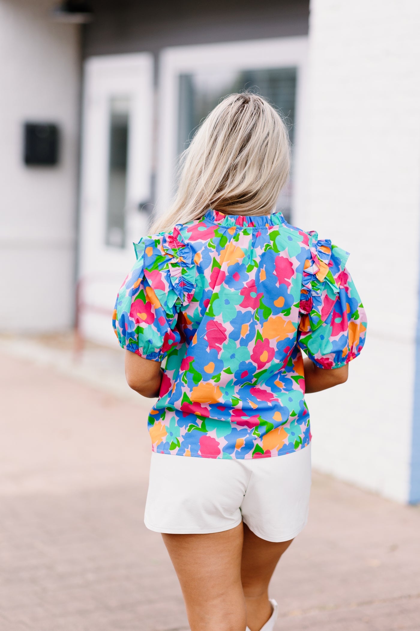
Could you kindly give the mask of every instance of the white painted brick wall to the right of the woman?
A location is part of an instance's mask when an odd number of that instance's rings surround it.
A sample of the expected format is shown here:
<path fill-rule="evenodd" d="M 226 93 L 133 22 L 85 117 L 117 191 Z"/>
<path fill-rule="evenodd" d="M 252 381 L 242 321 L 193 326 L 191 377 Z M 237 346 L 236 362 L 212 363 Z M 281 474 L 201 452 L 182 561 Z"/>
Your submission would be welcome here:
<path fill-rule="evenodd" d="M 406 501 L 420 236 L 420 3 L 312 0 L 305 228 L 351 252 L 349 381 L 308 397 L 316 468 Z"/>

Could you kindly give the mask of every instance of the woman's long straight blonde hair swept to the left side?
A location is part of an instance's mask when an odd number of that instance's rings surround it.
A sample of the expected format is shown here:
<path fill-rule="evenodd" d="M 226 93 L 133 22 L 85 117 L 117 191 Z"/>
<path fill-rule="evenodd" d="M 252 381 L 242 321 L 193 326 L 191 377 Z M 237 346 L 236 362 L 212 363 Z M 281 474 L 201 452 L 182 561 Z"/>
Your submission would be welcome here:
<path fill-rule="evenodd" d="M 226 215 L 270 215 L 285 186 L 290 143 L 280 114 L 252 92 L 224 98 L 181 155 L 178 192 L 152 232 L 200 219 L 209 208 Z"/>

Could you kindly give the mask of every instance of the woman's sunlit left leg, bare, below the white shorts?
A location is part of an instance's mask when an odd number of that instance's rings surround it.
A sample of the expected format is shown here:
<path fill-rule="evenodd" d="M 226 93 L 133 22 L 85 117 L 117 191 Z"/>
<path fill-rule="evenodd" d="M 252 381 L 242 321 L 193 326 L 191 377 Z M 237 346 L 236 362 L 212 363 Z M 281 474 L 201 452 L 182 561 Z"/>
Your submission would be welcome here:
<path fill-rule="evenodd" d="M 181 584 L 191 631 L 245 631 L 242 523 L 222 533 L 162 537 Z"/>

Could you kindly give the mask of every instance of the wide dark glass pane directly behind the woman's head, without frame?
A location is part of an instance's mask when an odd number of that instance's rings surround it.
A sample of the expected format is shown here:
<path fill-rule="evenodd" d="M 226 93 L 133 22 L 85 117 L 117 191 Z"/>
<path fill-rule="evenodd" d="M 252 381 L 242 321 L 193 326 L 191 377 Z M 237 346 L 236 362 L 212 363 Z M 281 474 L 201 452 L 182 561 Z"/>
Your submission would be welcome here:
<path fill-rule="evenodd" d="M 295 122 L 296 68 L 263 68 L 242 71 L 199 71 L 179 76 L 178 152 L 188 147 L 191 139 L 220 99 L 232 92 L 252 90 L 281 111 L 293 145 Z M 293 155 L 293 151 L 292 151 Z M 292 159 L 293 162 L 293 159 Z M 292 165 L 293 166 L 293 165 Z M 292 169 L 293 170 L 293 169 Z M 280 194 L 276 208 L 290 219 L 292 179 Z"/>

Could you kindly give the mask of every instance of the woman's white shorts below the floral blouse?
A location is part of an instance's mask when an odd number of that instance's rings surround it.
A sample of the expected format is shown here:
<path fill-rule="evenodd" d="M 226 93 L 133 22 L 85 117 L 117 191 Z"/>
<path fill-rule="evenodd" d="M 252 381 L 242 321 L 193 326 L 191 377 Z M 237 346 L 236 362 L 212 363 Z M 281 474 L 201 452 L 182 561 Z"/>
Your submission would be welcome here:
<path fill-rule="evenodd" d="M 219 533 L 243 520 L 267 541 L 288 541 L 309 509 L 310 445 L 292 454 L 223 460 L 152 453 L 144 523 L 158 533 Z"/>

